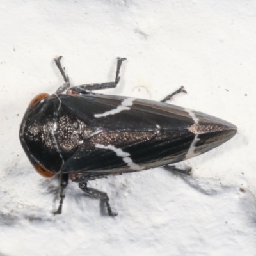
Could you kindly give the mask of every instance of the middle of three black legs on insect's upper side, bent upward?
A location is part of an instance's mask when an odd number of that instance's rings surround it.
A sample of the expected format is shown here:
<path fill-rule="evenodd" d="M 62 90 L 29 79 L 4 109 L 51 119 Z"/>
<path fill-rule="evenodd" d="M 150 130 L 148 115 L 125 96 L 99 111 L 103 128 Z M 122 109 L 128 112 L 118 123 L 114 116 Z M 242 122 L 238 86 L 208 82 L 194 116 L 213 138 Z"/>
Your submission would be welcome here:
<path fill-rule="evenodd" d="M 120 81 L 120 76 L 119 76 L 120 68 L 124 60 L 126 60 L 126 58 L 117 58 L 115 82 L 83 84 L 83 85 L 72 87 L 70 91 L 75 93 L 81 93 L 81 94 L 90 94 L 90 91 L 93 91 L 93 90 L 115 88 L 118 82 Z"/>

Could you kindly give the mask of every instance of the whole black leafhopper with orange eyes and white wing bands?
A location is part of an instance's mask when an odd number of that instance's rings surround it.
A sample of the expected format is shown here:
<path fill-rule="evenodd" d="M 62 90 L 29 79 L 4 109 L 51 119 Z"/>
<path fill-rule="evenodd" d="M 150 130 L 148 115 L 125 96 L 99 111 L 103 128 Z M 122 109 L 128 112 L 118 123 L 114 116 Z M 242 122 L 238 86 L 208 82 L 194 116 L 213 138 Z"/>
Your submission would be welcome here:
<path fill-rule="evenodd" d="M 56 93 L 41 93 L 30 102 L 19 132 L 36 171 L 44 177 L 60 175 L 56 214 L 61 214 L 70 179 L 87 195 L 104 200 L 109 216 L 116 216 L 108 195 L 88 187 L 89 180 L 157 166 L 189 173 L 191 168 L 170 164 L 218 147 L 237 132 L 229 122 L 165 103 L 186 92 L 183 87 L 161 102 L 93 93 L 116 87 L 125 58 L 117 60 L 115 82 L 74 87 L 60 60 L 54 59 L 65 83 Z"/>

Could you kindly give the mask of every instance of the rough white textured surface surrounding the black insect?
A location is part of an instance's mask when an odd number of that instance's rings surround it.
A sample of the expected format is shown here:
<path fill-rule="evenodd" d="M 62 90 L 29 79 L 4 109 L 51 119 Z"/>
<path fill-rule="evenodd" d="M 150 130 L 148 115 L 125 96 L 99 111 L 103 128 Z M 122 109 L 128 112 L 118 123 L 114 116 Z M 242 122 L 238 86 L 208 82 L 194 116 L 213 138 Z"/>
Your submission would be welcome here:
<path fill-rule="evenodd" d="M 0 255 L 255 255 L 255 1 L 10 1 L 0 4 Z M 40 177 L 19 142 L 29 101 L 63 83 L 113 81 L 104 93 L 161 100 L 237 125 L 219 148 L 186 163 L 90 182 L 116 218 L 70 184 Z"/>

